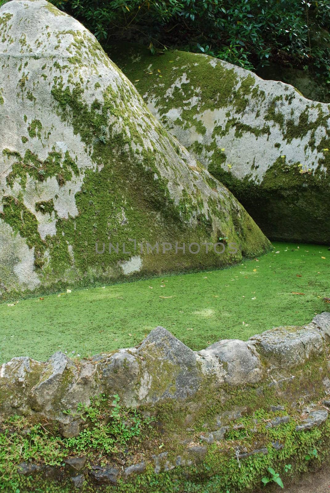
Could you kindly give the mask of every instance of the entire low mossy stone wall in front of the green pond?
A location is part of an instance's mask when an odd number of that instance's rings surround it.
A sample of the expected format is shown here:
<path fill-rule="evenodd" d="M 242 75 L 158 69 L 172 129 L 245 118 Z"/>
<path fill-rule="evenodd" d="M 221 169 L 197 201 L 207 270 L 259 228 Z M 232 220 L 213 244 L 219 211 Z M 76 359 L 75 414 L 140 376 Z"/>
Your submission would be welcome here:
<path fill-rule="evenodd" d="M 46 362 L 13 358 L 0 368 L 0 433 L 4 444 L 21 441 L 20 450 L 33 433 L 38 451 L 30 460 L 18 454 L 5 484 L 23 493 L 32 484 L 52 493 L 239 492 L 260 485 L 269 466 L 286 484 L 293 472 L 319 463 L 316 456 L 327 457 L 329 349 L 330 313 L 322 313 L 303 327 L 277 327 L 199 352 L 156 327 L 136 348 L 88 360 L 60 352 Z M 108 403 L 102 411 L 93 399 L 100 392 Z M 115 421 L 112 394 L 130 408 L 122 408 L 118 423 L 138 420 L 144 428 L 141 439 L 136 434 L 105 453 L 98 433 Z M 90 440 L 81 449 L 85 433 Z M 61 457 L 55 463 L 48 442 Z"/>

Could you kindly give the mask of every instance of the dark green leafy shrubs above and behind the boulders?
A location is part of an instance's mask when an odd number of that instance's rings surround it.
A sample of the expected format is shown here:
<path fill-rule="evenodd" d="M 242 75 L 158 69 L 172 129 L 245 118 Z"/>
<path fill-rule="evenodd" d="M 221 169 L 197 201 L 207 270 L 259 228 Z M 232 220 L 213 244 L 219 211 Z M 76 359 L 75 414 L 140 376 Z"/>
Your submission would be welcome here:
<path fill-rule="evenodd" d="M 1 0 L 0 0 L 1 1 Z M 273 60 L 329 77 L 330 1 L 52 0 L 110 39 L 180 47 L 247 69 Z"/>

